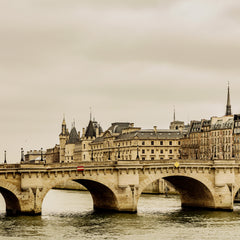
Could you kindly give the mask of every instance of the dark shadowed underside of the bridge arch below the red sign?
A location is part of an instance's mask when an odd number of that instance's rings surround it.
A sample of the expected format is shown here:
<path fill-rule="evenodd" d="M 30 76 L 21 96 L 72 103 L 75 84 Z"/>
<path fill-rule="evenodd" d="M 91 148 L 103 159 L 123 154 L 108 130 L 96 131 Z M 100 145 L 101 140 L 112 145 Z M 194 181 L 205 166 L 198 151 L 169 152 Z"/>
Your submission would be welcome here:
<path fill-rule="evenodd" d="M 114 192 L 106 185 L 86 179 L 75 179 L 82 184 L 91 194 L 95 210 L 118 210 L 118 200 Z"/>

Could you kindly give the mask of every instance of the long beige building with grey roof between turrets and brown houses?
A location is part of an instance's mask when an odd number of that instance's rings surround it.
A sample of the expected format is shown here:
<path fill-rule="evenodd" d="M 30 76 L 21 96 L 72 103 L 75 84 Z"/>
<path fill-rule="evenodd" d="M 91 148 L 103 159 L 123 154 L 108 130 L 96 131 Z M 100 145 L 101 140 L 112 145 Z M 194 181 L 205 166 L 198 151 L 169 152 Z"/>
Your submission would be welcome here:
<path fill-rule="evenodd" d="M 117 122 L 90 143 L 92 161 L 179 159 L 182 130 L 142 130 L 133 123 Z"/>

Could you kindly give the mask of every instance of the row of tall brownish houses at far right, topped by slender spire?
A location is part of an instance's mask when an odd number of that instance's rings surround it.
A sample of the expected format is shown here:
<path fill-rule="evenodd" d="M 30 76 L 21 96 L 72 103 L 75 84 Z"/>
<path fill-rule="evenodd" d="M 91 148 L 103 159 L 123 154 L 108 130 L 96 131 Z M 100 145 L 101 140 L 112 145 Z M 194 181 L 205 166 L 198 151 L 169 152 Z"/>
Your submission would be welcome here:
<path fill-rule="evenodd" d="M 191 121 L 189 132 L 181 140 L 184 159 L 233 159 L 239 149 L 239 115 L 232 115 L 228 86 L 223 117 Z M 238 154 L 239 155 L 239 154 Z"/>

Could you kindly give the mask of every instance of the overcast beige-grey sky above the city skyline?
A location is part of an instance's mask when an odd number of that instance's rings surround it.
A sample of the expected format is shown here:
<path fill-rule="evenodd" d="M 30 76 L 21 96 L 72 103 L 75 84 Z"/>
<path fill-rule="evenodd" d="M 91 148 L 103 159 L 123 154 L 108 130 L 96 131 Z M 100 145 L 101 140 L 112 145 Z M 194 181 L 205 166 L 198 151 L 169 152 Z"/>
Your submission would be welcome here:
<path fill-rule="evenodd" d="M 0 162 L 58 143 L 89 108 L 167 128 L 240 113 L 239 0 L 0 0 Z"/>

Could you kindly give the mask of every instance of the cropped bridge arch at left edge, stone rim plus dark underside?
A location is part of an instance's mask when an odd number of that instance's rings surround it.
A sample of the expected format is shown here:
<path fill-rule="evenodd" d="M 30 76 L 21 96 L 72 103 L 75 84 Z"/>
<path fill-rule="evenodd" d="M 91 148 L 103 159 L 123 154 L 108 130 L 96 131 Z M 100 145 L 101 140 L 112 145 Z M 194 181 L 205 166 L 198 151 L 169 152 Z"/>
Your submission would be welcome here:
<path fill-rule="evenodd" d="M 17 190 L 16 186 L 6 183 L 4 181 L 0 182 L 0 193 L 2 194 L 6 203 L 6 213 L 7 215 L 17 215 L 21 212 L 20 201 L 17 196 L 20 192 Z"/>

